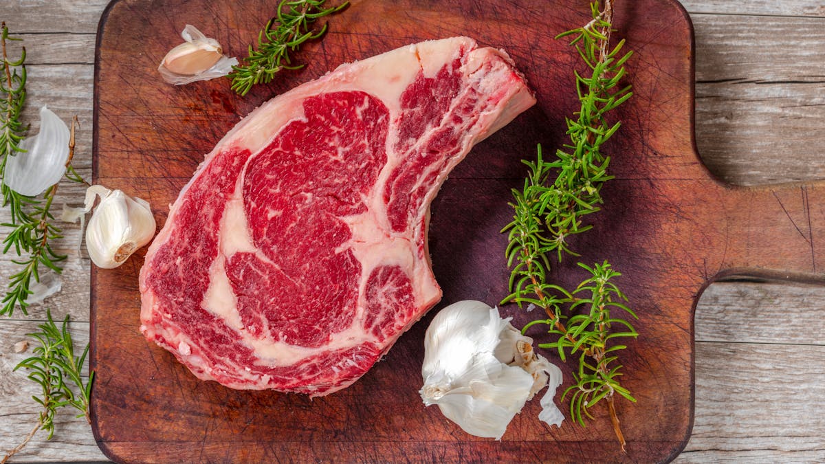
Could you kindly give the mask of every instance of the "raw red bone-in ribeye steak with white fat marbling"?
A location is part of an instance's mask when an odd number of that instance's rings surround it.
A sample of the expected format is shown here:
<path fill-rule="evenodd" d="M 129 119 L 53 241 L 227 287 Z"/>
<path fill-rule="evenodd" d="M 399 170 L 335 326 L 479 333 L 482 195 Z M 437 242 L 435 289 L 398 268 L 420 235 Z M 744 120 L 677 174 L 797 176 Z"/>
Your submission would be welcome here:
<path fill-rule="evenodd" d="M 140 272 L 141 331 L 196 376 L 326 395 L 441 298 L 429 206 L 473 144 L 535 103 L 466 37 L 343 64 L 220 140 Z"/>

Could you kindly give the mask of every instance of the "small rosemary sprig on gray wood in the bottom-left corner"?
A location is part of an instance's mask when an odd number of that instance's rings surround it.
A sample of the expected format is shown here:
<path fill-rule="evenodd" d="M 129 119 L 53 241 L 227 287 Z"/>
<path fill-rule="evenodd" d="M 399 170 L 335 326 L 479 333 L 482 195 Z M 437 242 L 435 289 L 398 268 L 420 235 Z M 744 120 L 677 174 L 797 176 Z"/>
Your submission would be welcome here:
<path fill-rule="evenodd" d="M 68 315 L 61 327 L 54 324 L 49 310 L 46 310 L 46 319 L 44 324 L 38 326 L 40 332 L 29 334 L 40 342 L 40 346 L 34 349 L 35 356 L 24 359 L 14 368 L 15 371 L 26 368 L 29 371 L 28 378 L 40 385 L 40 395 L 32 396 L 32 399 L 42 406 L 42 410 L 38 414 L 35 428 L 20 445 L 7 452 L 2 462 L 7 462 L 25 447 L 41 428 L 49 433 L 47 438 L 51 439 L 54 435 L 54 416 L 64 406 L 78 410 L 77 417 L 85 417 L 91 424 L 89 400 L 95 375 L 94 372 L 90 372 L 87 381 L 83 381 L 82 377 L 89 345 L 86 345 L 80 356 L 75 356 L 72 336 L 68 332 Z"/>

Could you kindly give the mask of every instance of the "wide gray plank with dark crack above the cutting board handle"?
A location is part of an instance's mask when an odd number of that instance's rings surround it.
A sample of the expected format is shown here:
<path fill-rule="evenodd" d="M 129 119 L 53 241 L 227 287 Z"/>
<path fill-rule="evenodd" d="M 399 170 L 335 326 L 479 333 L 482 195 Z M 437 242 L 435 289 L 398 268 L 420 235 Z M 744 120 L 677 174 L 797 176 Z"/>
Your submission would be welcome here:
<path fill-rule="evenodd" d="M 742 185 L 825 178 L 825 18 L 692 17 L 710 170 Z"/>

